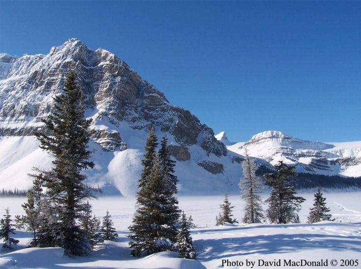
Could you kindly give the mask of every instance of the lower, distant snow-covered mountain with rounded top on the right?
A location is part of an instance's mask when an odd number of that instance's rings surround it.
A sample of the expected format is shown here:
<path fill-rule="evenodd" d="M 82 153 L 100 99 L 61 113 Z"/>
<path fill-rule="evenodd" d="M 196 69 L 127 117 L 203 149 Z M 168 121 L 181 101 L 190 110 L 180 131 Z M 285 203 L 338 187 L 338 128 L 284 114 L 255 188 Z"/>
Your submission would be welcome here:
<path fill-rule="evenodd" d="M 222 137 L 225 133 L 222 132 Z M 216 135 L 218 140 L 220 137 Z M 227 149 L 263 159 L 271 165 L 279 161 L 296 166 L 296 171 L 324 175 L 361 176 L 361 141 L 321 143 L 265 131 L 247 142 L 226 145 Z"/>

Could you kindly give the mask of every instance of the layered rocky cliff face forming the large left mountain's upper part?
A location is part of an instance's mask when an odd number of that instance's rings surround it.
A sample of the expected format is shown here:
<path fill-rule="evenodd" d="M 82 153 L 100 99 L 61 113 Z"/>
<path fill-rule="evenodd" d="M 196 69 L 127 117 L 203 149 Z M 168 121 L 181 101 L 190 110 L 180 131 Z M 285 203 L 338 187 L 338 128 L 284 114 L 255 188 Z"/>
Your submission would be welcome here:
<path fill-rule="evenodd" d="M 23 57 L 0 54 L 0 135 L 31 135 L 41 129 L 40 119 L 51 109 L 52 97 L 61 93 L 69 68 L 75 68 L 93 126 L 96 143 L 104 150 L 126 149 L 121 134 L 100 127 L 126 122 L 131 128 L 150 124 L 174 136 L 183 147 L 199 143 L 207 154 L 225 156 L 226 148 L 213 130 L 188 110 L 172 106 L 163 93 L 146 82 L 129 66 L 105 49 L 88 49 L 77 39 L 53 47 L 47 55 Z"/>

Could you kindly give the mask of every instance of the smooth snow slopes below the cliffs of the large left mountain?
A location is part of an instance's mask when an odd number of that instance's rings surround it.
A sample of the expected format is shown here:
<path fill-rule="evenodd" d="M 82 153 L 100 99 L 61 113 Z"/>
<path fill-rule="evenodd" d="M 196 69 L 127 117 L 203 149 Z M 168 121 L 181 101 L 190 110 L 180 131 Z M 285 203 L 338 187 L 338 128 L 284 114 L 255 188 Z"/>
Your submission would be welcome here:
<path fill-rule="evenodd" d="M 90 141 L 89 148 L 95 150 L 91 157 L 95 168 L 84 171 L 84 174 L 87 176 L 88 184 L 99 186 L 107 195 L 121 193 L 123 196 L 134 197 L 143 169 L 141 159 L 148 134 L 144 130 L 134 130 L 126 123 L 122 124 L 118 130 L 124 141 L 127 141 L 128 149 L 106 152 L 94 141 Z M 162 136 L 167 136 L 169 145 L 178 145 L 174 137 L 160 130 L 156 131 L 158 141 Z M 0 137 L 0 189 L 14 190 L 15 187 L 19 190 L 29 189 L 32 187 L 32 180 L 28 174 L 34 173 L 33 167 L 44 170 L 51 168 L 52 159 L 46 151 L 39 148 L 39 145 L 34 136 Z M 232 162 L 232 157 L 236 156 L 236 153 L 228 152 L 227 156 L 218 158 L 213 154 L 207 156 L 199 145 L 190 146 L 188 150 L 191 153 L 191 159 L 177 162 L 175 168 L 175 174 L 179 180 L 179 193 L 219 195 L 226 191 L 229 185 L 238 184 L 242 170 L 240 164 Z M 197 165 L 200 161 L 220 163 L 224 171 L 212 174 Z"/>

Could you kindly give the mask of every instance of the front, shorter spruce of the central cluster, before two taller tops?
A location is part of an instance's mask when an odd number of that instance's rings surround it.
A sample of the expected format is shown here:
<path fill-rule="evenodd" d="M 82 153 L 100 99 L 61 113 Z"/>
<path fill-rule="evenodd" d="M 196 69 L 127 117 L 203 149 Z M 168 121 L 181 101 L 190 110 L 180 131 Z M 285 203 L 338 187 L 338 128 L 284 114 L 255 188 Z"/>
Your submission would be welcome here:
<path fill-rule="evenodd" d="M 147 184 L 137 193 L 138 209 L 129 227 L 129 243 L 133 256 L 146 256 L 155 252 L 173 250 L 177 227 L 169 220 L 177 220 L 174 213 L 174 197 L 169 196 L 168 177 L 158 154 Z M 173 221 L 171 221 L 173 222 Z"/>

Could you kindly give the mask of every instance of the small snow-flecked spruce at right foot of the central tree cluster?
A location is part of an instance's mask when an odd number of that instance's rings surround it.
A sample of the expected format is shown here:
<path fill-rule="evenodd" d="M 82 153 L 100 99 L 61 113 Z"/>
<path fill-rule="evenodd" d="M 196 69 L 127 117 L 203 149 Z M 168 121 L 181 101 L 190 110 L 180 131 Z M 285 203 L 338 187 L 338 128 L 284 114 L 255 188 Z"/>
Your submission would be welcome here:
<path fill-rule="evenodd" d="M 177 235 L 178 255 L 179 258 L 195 259 L 197 253 L 195 252 L 195 246 L 193 245 L 188 223 L 186 215 L 183 212 L 180 222 L 180 231 Z"/>

